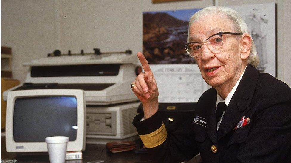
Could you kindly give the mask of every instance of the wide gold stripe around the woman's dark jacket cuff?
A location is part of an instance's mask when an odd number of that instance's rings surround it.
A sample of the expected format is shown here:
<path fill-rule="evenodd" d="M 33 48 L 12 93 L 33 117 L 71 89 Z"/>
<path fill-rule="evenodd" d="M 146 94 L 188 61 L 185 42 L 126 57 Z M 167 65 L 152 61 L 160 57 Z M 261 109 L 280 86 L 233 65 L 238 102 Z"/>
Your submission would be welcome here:
<path fill-rule="evenodd" d="M 162 143 L 167 138 L 167 130 L 165 128 L 164 123 L 162 126 L 157 129 L 156 131 L 146 134 L 146 135 L 139 135 L 140 139 L 143 141 L 143 144 L 146 148 L 154 148 Z"/>

